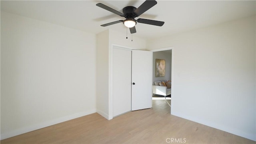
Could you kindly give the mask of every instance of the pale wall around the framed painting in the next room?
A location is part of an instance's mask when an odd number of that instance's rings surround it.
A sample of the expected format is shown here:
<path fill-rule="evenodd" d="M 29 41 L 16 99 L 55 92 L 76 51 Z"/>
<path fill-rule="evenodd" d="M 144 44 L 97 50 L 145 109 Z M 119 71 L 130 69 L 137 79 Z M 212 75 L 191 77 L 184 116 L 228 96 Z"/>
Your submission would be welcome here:
<path fill-rule="evenodd" d="M 165 60 L 165 76 L 156 77 L 156 59 Z M 172 54 L 166 51 L 153 52 L 153 82 L 157 80 L 171 80 Z"/>

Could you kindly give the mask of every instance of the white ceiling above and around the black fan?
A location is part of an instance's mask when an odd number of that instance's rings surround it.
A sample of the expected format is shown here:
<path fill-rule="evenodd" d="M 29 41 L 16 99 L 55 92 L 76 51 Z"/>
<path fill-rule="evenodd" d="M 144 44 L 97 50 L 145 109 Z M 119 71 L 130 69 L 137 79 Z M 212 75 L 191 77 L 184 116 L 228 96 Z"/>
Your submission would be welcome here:
<path fill-rule="evenodd" d="M 1 11 L 26 16 L 90 33 L 97 34 L 108 28 L 126 34 L 126 27 L 109 22 L 124 20 L 123 17 L 104 10 L 97 3 L 105 4 L 122 12 L 125 6 L 138 8 L 144 0 L 80 0 L 80 1 L 3 1 Z M 170 1 L 157 0 L 158 4 L 137 18 L 164 21 L 164 25 L 152 26 L 137 23 L 141 38 L 158 38 L 205 26 L 228 22 L 256 14 L 256 1 Z M 137 19 L 136 18 L 136 19 Z M 128 30 L 129 32 L 129 30 Z"/>

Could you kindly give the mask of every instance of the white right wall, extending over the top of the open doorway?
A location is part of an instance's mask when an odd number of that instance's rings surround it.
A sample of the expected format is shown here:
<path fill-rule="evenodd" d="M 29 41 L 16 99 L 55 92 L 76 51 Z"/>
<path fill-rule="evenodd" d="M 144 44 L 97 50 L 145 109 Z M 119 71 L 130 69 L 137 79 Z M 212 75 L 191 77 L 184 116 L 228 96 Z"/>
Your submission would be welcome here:
<path fill-rule="evenodd" d="M 148 40 L 172 50 L 172 114 L 256 140 L 255 16 Z"/>

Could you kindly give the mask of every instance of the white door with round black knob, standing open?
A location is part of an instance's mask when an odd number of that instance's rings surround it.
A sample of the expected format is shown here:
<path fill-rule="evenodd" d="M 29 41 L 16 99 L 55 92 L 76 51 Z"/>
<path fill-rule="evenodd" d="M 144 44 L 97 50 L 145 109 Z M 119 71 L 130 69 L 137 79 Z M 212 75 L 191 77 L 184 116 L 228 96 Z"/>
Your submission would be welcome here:
<path fill-rule="evenodd" d="M 132 50 L 132 110 L 152 108 L 152 52 Z"/>

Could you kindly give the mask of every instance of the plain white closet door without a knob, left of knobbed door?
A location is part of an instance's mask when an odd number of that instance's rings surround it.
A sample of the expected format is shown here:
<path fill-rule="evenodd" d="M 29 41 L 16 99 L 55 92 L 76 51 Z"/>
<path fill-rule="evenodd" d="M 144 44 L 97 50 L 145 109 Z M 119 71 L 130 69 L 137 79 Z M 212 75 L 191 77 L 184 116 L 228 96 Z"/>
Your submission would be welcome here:
<path fill-rule="evenodd" d="M 131 111 L 132 51 L 113 47 L 113 117 Z"/>

